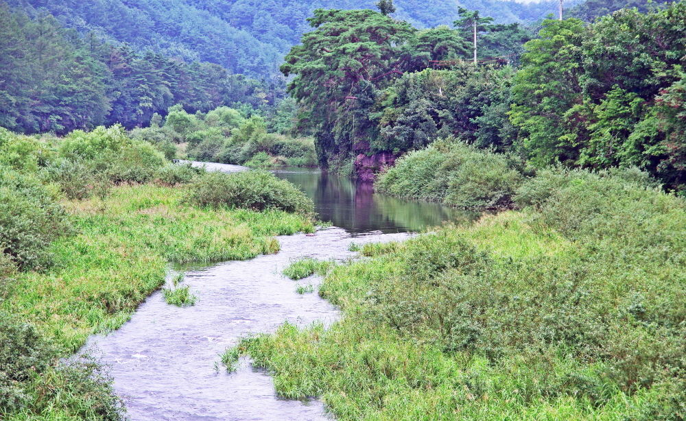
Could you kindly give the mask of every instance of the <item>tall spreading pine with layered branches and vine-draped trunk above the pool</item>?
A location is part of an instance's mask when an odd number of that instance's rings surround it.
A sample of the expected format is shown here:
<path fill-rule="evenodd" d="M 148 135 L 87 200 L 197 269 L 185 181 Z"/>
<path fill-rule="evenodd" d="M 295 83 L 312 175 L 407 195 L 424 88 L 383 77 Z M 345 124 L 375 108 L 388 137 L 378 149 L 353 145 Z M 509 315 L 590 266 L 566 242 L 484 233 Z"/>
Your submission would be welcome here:
<path fill-rule="evenodd" d="M 427 60 L 455 58 L 464 40 L 445 27 L 417 30 L 372 10 L 315 11 L 313 32 L 303 35 L 281 65 L 297 75 L 288 91 L 306 112 L 301 121 L 316 130 L 322 167 L 368 148 L 374 124 L 368 108 L 379 88 L 395 77 L 425 67 Z"/>

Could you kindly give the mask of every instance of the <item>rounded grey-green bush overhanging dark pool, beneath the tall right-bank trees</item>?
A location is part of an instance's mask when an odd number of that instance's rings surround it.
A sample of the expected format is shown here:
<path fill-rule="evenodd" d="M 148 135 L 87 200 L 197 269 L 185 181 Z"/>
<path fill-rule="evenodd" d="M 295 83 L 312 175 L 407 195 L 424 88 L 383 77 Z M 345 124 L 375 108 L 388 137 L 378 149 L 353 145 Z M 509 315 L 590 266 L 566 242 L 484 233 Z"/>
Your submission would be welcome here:
<path fill-rule="evenodd" d="M 521 183 L 506 156 L 456 141 L 436 141 L 400 158 L 377 191 L 464 208 L 502 208 Z"/>

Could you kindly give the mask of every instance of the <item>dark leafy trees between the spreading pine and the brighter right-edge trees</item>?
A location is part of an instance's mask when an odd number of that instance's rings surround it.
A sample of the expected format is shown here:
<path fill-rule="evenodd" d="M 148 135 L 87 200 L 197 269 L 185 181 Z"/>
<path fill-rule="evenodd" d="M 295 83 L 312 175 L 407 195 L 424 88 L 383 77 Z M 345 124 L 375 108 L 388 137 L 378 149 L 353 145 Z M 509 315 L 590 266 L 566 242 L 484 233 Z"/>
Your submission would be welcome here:
<path fill-rule="evenodd" d="M 372 152 L 421 149 L 439 137 L 456 136 L 480 147 L 506 150 L 516 130 L 508 121 L 509 86 L 514 69 L 407 73 L 379 95 L 379 134 Z"/>

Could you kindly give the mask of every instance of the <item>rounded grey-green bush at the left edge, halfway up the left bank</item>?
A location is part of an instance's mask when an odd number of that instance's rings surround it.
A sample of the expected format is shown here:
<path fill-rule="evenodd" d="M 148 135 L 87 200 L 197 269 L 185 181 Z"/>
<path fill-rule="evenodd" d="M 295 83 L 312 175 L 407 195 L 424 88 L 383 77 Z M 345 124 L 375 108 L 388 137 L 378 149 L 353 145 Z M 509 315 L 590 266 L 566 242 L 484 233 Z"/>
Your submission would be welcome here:
<path fill-rule="evenodd" d="M 37 178 L 0 167 L 0 251 L 22 269 L 45 267 L 51 241 L 68 232 L 69 221 Z"/>

